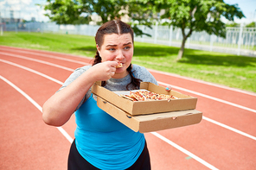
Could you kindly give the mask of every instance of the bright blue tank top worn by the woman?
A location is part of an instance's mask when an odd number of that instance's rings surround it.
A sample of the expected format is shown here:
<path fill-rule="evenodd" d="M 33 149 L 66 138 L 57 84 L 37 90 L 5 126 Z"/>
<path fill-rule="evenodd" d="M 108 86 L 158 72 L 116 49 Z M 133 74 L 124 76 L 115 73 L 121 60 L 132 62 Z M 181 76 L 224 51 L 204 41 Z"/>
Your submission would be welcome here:
<path fill-rule="evenodd" d="M 94 167 L 120 170 L 138 160 L 144 149 L 144 134 L 134 132 L 99 109 L 93 95 L 74 114 L 76 147 Z"/>

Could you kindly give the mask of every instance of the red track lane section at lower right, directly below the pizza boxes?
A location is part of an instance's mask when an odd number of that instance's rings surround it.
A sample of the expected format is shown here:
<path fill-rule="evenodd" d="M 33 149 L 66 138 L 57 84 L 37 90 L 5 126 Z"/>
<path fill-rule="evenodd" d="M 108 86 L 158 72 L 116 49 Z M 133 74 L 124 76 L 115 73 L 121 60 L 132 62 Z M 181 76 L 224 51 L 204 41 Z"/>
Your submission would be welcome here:
<path fill-rule="evenodd" d="M 219 169 L 252 169 L 255 141 L 202 120 L 187 128 L 157 132 Z"/>

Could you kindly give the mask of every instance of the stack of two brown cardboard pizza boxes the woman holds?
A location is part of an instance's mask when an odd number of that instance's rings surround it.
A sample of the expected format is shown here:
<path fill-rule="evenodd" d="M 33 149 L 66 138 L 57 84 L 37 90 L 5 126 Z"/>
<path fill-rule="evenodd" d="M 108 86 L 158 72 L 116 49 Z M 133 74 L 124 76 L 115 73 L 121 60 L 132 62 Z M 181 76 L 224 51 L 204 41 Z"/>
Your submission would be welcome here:
<path fill-rule="evenodd" d="M 178 91 L 166 91 L 163 86 L 149 82 L 142 82 L 140 90 L 170 95 L 176 99 L 131 101 L 122 97 L 130 91 L 109 91 L 101 86 L 101 82 L 96 82 L 92 88 L 93 94 L 97 95 L 99 108 L 136 132 L 146 133 L 201 122 L 202 112 L 195 110 L 197 98 Z"/>

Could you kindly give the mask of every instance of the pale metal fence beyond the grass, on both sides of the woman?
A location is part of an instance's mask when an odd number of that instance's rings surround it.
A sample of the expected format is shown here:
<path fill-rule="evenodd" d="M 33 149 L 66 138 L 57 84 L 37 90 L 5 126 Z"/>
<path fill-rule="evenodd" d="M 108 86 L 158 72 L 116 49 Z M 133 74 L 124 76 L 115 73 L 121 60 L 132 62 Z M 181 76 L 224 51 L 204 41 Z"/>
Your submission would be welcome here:
<path fill-rule="evenodd" d="M 0 24 L 2 35 L 4 31 L 51 32 L 55 34 L 92 35 L 96 34 L 99 26 L 93 25 L 58 25 L 54 22 L 26 22 Z M 180 47 L 182 31 L 172 26 L 157 26 L 152 29 L 139 26 L 151 37 L 136 36 L 135 41 L 163 44 Z M 226 38 L 208 35 L 206 32 L 194 32 L 186 42 L 186 48 L 208 50 L 227 54 L 256 56 L 256 27 L 255 28 L 227 28 Z"/>

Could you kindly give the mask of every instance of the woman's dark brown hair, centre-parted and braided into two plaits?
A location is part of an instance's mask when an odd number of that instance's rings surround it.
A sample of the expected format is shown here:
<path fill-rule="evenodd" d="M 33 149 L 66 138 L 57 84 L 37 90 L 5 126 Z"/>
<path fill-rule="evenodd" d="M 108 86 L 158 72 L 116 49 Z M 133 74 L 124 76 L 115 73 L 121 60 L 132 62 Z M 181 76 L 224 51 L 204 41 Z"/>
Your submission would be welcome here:
<path fill-rule="evenodd" d="M 102 46 L 104 42 L 104 35 L 112 35 L 112 34 L 117 34 L 117 35 L 123 35 L 130 33 L 131 35 L 131 40 L 132 43 L 134 42 L 134 37 L 133 37 L 133 30 L 125 22 L 122 22 L 120 20 L 112 20 L 109 22 L 104 23 L 97 31 L 96 36 L 95 36 L 95 42 L 98 44 L 99 48 Z M 101 62 L 101 57 L 99 56 L 98 50 L 96 51 L 96 55 L 94 57 L 95 59 L 93 60 L 93 65 L 96 65 Z M 134 77 L 133 73 L 131 72 L 131 65 L 128 66 L 126 69 L 127 72 L 131 75 L 131 83 L 126 85 L 126 89 L 138 89 L 139 84 L 142 81 L 141 79 L 137 79 Z M 106 85 L 106 81 L 102 82 L 102 86 Z"/>

